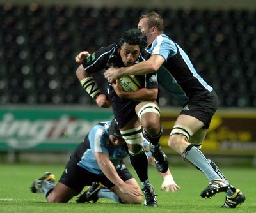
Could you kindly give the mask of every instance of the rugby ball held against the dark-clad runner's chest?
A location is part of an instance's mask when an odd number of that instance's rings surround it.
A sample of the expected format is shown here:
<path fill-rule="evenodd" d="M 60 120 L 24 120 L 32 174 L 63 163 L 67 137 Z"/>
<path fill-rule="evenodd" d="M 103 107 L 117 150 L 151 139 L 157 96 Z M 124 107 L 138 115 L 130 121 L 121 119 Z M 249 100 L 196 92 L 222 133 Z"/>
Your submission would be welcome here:
<path fill-rule="evenodd" d="M 132 92 L 140 89 L 140 82 L 136 79 L 134 75 L 122 75 L 118 78 L 123 91 Z"/>

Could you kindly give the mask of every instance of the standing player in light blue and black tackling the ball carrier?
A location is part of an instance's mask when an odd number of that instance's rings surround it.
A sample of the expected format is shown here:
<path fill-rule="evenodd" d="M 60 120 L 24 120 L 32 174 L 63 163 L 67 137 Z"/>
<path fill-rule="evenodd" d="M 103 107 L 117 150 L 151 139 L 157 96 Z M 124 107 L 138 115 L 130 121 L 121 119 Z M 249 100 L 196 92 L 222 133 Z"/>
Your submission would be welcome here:
<path fill-rule="evenodd" d="M 147 36 L 148 50 L 151 53 L 147 61 L 129 67 L 109 68 L 104 77 L 110 82 L 121 75 L 145 75 L 157 72 L 160 85 L 173 95 L 168 83 L 173 80 L 186 95 L 175 98 L 183 104 L 183 109 L 173 126 L 168 145 L 182 158 L 201 170 L 209 179 L 209 185 L 202 191 L 203 198 L 211 198 L 216 193 L 225 192 L 226 201 L 223 208 L 235 208 L 245 200 L 241 190 L 232 186 L 218 167 L 200 151 L 212 116 L 218 107 L 218 96 L 196 72 L 184 50 L 164 34 L 161 15 L 152 12 L 141 15 L 138 23 Z M 173 79 L 174 78 L 174 79 Z"/>

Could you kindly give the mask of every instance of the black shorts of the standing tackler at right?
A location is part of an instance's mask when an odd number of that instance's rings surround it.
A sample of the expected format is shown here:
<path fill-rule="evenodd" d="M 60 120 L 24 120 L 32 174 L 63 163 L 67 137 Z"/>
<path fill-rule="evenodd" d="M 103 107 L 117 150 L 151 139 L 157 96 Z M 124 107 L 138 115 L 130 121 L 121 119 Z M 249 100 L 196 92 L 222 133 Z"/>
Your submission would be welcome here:
<path fill-rule="evenodd" d="M 196 117 L 204 123 L 203 129 L 208 129 L 218 104 L 216 92 L 211 91 L 205 96 L 189 99 L 180 114 Z"/>

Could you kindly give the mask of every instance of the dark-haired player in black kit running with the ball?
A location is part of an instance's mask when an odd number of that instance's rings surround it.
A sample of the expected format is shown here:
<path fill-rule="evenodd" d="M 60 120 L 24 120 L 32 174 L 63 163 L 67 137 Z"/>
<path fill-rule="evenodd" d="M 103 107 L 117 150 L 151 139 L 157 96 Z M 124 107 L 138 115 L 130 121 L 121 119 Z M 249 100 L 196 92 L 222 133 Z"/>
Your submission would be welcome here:
<path fill-rule="evenodd" d="M 150 54 L 144 48 L 146 45 L 147 39 L 140 30 L 129 29 L 122 33 L 118 43 L 100 48 L 92 55 L 88 52 L 77 55 L 76 61 L 83 64 L 77 69 L 77 78 L 100 107 L 108 107 L 110 103 L 108 98 L 101 94 L 91 75 L 111 66 L 132 66 L 147 60 Z M 116 80 L 109 84 L 108 94 L 118 128 L 129 148 L 131 165 L 143 186 L 145 205 L 157 206 L 156 194 L 148 181 L 148 159 L 143 147 L 143 133 L 152 143 L 150 151 L 155 158 L 157 169 L 159 172 L 166 172 L 168 158 L 161 151 L 159 144 L 162 128 L 157 104 L 158 83 L 155 73 L 141 75 L 138 81 L 141 87 L 138 91 L 125 92 Z"/>

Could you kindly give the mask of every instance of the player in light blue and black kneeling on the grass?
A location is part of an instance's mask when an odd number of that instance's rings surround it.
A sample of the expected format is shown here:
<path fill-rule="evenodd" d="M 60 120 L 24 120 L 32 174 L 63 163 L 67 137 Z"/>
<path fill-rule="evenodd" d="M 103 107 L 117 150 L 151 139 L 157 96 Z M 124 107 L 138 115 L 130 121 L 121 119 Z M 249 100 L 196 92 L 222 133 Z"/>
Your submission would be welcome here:
<path fill-rule="evenodd" d="M 146 140 L 144 146 L 147 155 L 151 156 Z M 33 181 L 31 191 L 44 193 L 49 203 L 67 203 L 72 197 L 79 195 L 85 186 L 93 185 L 93 190 L 90 187 L 77 202 L 96 202 L 101 197 L 117 203 L 140 204 L 143 200 L 140 186 L 122 163 L 127 155 L 127 144 L 122 139 L 115 120 L 99 122 L 70 156 L 56 186 L 55 175 L 45 173 L 43 177 Z M 169 169 L 160 174 L 164 179 L 162 189 L 166 188 L 167 192 L 169 189 L 173 192 L 180 189 Z"/>

